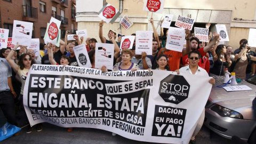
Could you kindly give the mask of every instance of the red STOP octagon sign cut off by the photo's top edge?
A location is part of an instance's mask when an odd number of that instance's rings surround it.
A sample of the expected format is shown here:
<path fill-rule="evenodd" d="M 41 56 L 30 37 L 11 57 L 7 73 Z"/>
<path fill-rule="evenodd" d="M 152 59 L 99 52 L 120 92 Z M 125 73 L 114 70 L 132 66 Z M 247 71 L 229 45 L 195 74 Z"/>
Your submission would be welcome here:
<path fill-rule="evenodd" d="M 165 0 L 146 0 L 143 10 L 148 12 L 163 13 Z"/>

